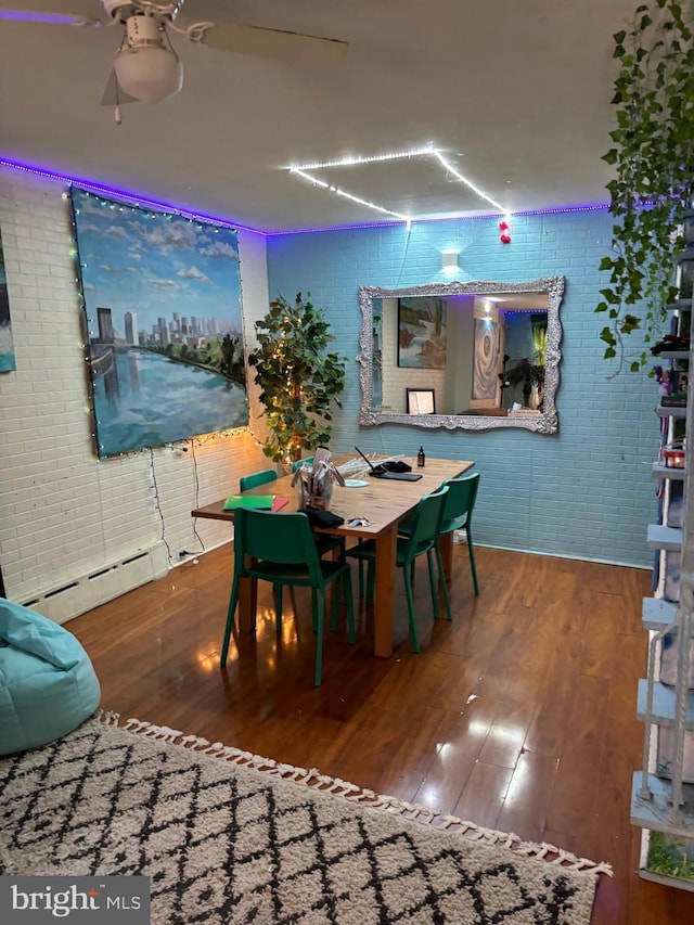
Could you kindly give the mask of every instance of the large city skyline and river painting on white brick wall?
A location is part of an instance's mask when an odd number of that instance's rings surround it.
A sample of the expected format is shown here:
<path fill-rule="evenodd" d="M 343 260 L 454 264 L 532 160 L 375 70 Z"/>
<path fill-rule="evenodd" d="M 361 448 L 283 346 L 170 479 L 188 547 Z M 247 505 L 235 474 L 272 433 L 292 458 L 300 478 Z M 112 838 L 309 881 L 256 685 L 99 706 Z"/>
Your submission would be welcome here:
<path fill-rule="evenodd" d="M 99 455 L 245 426 L 236 232 L 72 198 Z"/>

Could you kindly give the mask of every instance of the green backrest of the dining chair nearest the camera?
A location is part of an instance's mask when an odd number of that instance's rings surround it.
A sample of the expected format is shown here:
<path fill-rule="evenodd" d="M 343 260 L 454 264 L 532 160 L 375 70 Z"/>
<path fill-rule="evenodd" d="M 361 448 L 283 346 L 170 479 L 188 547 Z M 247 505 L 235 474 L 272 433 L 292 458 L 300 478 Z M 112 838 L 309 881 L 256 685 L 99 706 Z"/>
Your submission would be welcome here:
<path fill-rule="evenodd" d="M 235 566 L 242 567 L 245 555 L 282 565 L 306 565 L 311 583 L 323 583 L 313 530 L 300 511 L 277 514 L 240 508 L 234 514 Z"/>

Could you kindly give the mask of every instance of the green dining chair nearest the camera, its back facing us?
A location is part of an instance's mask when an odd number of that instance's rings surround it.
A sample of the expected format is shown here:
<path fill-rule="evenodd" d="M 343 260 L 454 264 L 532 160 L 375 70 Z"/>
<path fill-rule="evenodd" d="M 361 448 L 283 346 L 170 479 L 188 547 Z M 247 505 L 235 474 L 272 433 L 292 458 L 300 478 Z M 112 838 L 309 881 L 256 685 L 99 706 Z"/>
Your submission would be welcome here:
<path fill-rule="evenodd" d="M 268 519 L 270 517 L 271 519 Z M 239 603 L 239 582 L 242 578 L 269 581 L 278 589 L 311 589 L 311 622 L 316 640 L 316 686 L 320 688 L 323 671 L 323 630 L 325 622 L 325 589 L 335 583 L 331 629 L 337 629 L 339 606 L 338 584 L 342 583 L 347 608 L 347 632 L 355 642 L 355 612 L 351 598 L 351 569 L 343 557 L 321 558 L 313 531 L 306 514 L 274 514 L 271 511 L 240 509 L 234 517 L 234 577 L 227 613 L 227 627 L 221 647 L 223 668 L 229 654 L 229 641 Z M 282 629 L 282 604 L 275 598 L 277 630 Z"/>

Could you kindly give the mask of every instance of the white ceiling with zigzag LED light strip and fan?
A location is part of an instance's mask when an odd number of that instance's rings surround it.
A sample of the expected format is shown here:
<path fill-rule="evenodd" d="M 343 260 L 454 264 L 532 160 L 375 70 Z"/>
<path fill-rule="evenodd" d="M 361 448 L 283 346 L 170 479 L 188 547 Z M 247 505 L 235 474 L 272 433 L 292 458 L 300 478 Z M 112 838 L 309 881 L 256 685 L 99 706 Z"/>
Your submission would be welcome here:
<path fill-rule="evenodd" d="M 187 0 L 180 24 L 267 26 L 344 39 L 349 50 L 319 67 L 172 36 L 183 90 L 157 105 L 124 106 L 120 126 L 99 105 L 119 27 L 0 21 L 0 156 L 261 231 L 383 221 L 286 168 L 428 142 L 510 211 L 604 203 L 612 35 L 635 5 Z M 99 0 L 0 7 L 104 18 Z M 335 179 L 413 218 L 494 211 L 430 158 L 342 168 Z"/>

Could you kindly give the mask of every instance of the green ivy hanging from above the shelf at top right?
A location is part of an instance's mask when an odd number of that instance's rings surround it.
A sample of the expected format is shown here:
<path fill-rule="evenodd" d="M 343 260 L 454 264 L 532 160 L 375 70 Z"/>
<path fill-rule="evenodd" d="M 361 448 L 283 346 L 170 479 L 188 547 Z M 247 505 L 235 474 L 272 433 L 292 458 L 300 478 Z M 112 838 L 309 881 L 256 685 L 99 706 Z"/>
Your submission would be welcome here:
<path fill-rule="evenodd" d="M 637 8 L 628 30 L 614 36 L 617 127 L 603 160 L 615 167 L 607 184 L 613 226 L 609 271 L 595 311 L 607 312 L 605 358 L 626 357 L 625 337 L 660 337 L 665 308 L 677 299 L 674 256 L 694 193 L 694 49 L 692 4 L 652 0 Z M 632 371 L 647 362 L 643 350 L 628 359 Z M 619 371 L 618 370 L 618 371 Z"/>

